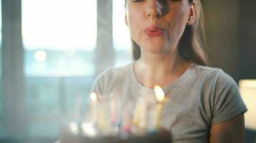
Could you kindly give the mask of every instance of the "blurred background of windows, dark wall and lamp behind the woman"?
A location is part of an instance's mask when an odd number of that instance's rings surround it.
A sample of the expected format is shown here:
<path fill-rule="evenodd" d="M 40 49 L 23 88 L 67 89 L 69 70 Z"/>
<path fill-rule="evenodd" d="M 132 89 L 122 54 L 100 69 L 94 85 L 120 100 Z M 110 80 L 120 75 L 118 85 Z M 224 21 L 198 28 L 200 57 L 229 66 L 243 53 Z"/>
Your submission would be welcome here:
<path fill-rule="evenodd" d="M 202 2 L 211 66 L 237 84 L 256 79 L 256 1 Z M 78 120 L 76 111 L 86 109 L 93 79 L 132 60 L 124 0 L 1 0 L 0 5 L 0 142 L 54 142 L 63 125 Z M 255 97 L 252 92 L 250 111 L 256 109 Z M 256 142 L 253 119 L 253 113 L 246 119 L 247 143 Z"/>

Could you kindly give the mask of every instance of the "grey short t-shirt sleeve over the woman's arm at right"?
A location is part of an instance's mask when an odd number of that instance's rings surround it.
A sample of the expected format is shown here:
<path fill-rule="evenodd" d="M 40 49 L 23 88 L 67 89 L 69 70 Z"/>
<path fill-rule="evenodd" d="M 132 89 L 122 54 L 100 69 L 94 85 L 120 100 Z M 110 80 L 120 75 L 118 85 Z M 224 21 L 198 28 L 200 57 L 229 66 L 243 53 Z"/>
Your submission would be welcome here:
<path fill-rule="evenodd" d="M 216 79 L 214 112 L 211 124 L 225 122 L 232 117 L 247 112 L 234 79 L 224 71 L 219 71 Z"/>

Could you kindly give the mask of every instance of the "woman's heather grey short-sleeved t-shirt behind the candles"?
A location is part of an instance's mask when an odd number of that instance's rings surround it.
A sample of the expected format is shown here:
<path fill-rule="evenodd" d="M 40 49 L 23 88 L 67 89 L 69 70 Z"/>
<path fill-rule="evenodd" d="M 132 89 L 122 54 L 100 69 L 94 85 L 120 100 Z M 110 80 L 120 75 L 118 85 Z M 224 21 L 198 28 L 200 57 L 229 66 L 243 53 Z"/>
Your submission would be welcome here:
<path fill-rule="evenodd" d="M 121 93 L 127 102 L 154 94 L 137 81 L 133 65 L 104 71 L 96 78 L 93 92 L 104 96 Z M 237 84 L 221 69 L 191 64 L 163 91 L 168 101 L 163 105 L 161 124 L 170 131 L 174 143 L 208 142 L 211 125 L 247 111 Z"/>

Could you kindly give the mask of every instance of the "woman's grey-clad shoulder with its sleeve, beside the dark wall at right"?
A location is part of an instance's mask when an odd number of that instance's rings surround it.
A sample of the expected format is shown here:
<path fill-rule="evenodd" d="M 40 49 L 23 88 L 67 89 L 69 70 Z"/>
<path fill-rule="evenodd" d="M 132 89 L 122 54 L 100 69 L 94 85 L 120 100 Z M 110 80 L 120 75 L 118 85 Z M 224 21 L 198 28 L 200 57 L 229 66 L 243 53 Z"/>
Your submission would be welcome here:
<path fill-rule="evenodd" d="M 239 94 L 237 83 L 222 69 L 209 66 L 195 66 L 194 71 L 201 75 L 197 83 L 202 83 L 204 97 L 211 110 L 211 124 L 227 121 L 247 111 Z"/>

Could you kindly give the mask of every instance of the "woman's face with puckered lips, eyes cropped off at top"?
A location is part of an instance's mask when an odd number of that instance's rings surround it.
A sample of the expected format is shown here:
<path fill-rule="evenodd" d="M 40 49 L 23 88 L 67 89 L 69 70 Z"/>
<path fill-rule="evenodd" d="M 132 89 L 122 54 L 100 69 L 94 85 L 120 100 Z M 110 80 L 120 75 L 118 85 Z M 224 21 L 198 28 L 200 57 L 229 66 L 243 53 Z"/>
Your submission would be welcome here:
<path fill-rule="evenodd" d="M 166 53 L 175 50 L 194 15 L 188 0 L 127 0 L 125 21 L 142 53 Z"/>

